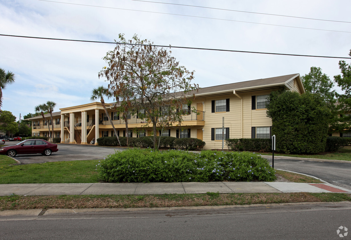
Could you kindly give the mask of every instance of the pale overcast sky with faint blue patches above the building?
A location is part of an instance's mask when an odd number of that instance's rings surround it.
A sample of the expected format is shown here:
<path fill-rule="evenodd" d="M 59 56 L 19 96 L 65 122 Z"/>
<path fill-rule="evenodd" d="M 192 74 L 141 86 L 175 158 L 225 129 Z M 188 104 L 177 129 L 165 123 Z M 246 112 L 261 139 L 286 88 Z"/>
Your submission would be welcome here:
<path fill-rule="evenodd" d="M 158 0 L 209 8 L 133 0 L 57 1 L 0 0 L 0 34 L 105 42 L 118 40 L 119 33 L 126 39 L 138 34 L 157 45 L 336 57 L 349 57 L 351 49 L 351 23 L 347 23 L 351 22 L 350 0 Z M 0 68 L 16 75 L 15 83 L 3 91 L 1 109 L 11 111 L 19 120 L 20 114 L 34 113 L 35 106 L 48 100 L 57 103 L 54 111 L 89 103 L 93 88 L 107 86 L 105 79 L 98 78 L 98 72 L 106 66 L 102 57 L 114 47 L 106 43 L 0 36 Z M 338 62 L 342 60 L 171 50 L 181 65 L 195 70 L 193 83 L 200 87 L 293 73 L 303 76 L 311 66 L 322 68 L 333 79 L 340 74 Z M 335 89 L 340 92 L 338 87 Z"/>

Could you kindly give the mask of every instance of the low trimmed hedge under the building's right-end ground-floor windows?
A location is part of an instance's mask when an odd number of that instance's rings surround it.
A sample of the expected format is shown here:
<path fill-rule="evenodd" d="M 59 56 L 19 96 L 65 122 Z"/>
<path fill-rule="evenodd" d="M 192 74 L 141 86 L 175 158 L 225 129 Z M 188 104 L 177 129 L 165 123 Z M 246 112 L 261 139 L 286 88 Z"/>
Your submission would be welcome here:
<path fill-rule="evenodd" d="M 233 151 L 270 151 L 272 139 L 239 138 L 226 139 L 228 149 Z"/>

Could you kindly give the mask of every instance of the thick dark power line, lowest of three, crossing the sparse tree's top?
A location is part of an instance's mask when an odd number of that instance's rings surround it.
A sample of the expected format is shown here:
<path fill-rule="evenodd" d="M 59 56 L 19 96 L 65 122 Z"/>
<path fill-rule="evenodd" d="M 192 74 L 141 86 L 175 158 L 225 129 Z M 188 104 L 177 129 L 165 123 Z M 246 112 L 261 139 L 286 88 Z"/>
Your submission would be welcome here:
<path fill-rule="evenodd" d="M 72 42 L 91 42 L 91 43 L 109 43 L 109 44 L 125 44 L 125 45 L 153 46 L 153 47 L 162 47 L 162 48 L 183 48 L 183 49 L 197 49 L 197 50 L 211 50 L 211 51 L 225 51 L 225 52 L 244 52 L 244 53 L 270 54 L 270 55 L 285 55 L 285 56 L 300 56 L 300 57 L 322 57 L 322 58 L 342 58 L 342 59 L 351 59 L 351 57 L 331 57 L 331 56 L 315 56 L 315 55 L 302 55 L 302 54 L 283 54 L 283 53 L 274 53 L 274 52 L 239 51 L 239 50 L 214 49 L 214 48 L 179 47 L 179 46 L 171 46 L 171 45 L 168 45 L 168 46 L 167 46 L 167 45 L 154 45 L 154 44 L 135 44 L 135 43 L 120 43 L 120 42 L 102 42 L 102 41 L 74 40 L 74 39 L 64 39 L 64 38 L 18 36 L 18 35 L 7 35 L 7 34 L 0 34 L 0 36 L 36 38 L 36 39 L 59 40 L 59 41 L 72 41 Z"/>

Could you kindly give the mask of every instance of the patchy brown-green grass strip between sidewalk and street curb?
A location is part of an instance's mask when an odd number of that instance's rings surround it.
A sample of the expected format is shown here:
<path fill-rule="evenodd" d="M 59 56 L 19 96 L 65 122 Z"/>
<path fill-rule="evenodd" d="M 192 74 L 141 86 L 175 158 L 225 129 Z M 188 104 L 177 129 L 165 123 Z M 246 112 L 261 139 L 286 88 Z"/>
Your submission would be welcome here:
<path fill-rule="evenodd" d="M 221 206 L 351 201 L 345 193 L 214 193 L 164 195 L 1 196 L 0 210 Z"/>

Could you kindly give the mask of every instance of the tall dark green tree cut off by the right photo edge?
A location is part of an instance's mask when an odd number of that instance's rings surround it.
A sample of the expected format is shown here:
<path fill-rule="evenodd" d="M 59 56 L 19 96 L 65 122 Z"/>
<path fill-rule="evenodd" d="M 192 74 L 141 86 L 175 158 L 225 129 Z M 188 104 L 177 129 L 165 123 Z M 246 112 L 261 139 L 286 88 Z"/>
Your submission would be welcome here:
<path fill-rule="evenodd" d="M 351 57 L 351 50 L 349 56 Z M 338 86 L 345 92 L 338 96 L 340 113 L 342 114 L 340 118 L 340 122 L 342 123 L 341 130 L 351 130 L 351 64 L 346 64 L 345 61 L 339 61 L 339 69 L 341 75 L 334 76 L 334 79 Z"/>

